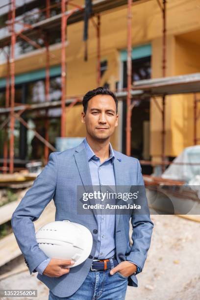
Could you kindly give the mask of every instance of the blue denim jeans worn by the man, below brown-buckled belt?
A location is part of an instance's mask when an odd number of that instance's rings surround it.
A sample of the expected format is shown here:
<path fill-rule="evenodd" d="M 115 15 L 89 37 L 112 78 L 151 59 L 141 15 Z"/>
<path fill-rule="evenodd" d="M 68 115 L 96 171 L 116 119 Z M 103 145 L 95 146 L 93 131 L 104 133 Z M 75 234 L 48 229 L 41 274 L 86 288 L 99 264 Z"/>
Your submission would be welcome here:
<path fill-rule="evenodd" d="M 79 289 L 70 297 L 60 298 L 50 291 L 49 300 L 125 300 L 128 279 L 110 270 L 89 271 Z"/>

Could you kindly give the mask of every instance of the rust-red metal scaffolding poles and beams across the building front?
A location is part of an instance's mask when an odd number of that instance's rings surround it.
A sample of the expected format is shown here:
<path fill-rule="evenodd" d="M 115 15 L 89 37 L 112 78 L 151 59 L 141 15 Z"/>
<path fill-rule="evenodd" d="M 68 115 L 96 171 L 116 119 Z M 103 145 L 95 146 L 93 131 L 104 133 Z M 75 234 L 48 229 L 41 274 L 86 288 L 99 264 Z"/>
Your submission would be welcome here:
<path fill-rule="evenodd" d="M 147 94 L 146 87 L 144 85 L 139 86 L 139 82 L 136 85 L 132 85 L 131 75 L 132 75 L 132 64 L 131 64 L 131 49 L 132 49 L 132 5 L 146 2 L 148 0 L 94 0 L 92 2 L 93 13 L 91 15 L 92 24 L 96 28 L 97 36 L 97 86 L 100 84 L 100 14 L 104 11 L 108 11 L 121 6 L 127 6 L 127 88 L 120 92 L 117 92 L 117 97 L 122 100 L 126 100 L 126 155 L 131 154 L 131 112 L 134 107 L 134 98 L 143 98 L 145 93 Z M 162 75 L 166 75 L 166 0 L 156 0 L 162 13 L 163 28 L 162 28 Z M 41 2 L 39 0 L 32 0 L 26 4 L 27 11 L 39 5 Z M 10 141 L 9 141 L 9 167 L 8 165 L 8 140 L 4 141 L 3 145 L 3 167 L 0 168 L 3 173 L 13 173 L 14 172 L 14 126 L 15 120 L 19 120 L 26 128 L 28 124 L 21 117 L 25 110 L 38 110 L 41 108 L 46 109 L 46 114 L 48 109 L 52 107 L 61 107 L 61 132 L 60 136 L 65 137 L 65 122 L 66 122 L 66 105 L 68 108 L 73 107 L 77 102 L 80 102 L 82 95 L 66 97 L 66 37 L 67 37 L 67 26 L 74 24 L 76 22 L 82 21 L 85 11 L 84 5 L 75 4 L 75 0 L 61 0 L 58 3 L 50 5 L 50 0 L 46 0 L 46 7 L 40 11 L 46 14 L 45 20 L 39 21 L 35 24 L 27 24 L 24 22 L 23 18 L 16 19 L 20 16 L 24 10 L 23 7 L 16 8 L 16 0 L 11 0 L 7 4 L 9 6 L 9 13 L 1 15 L 1 18 L 5 22 L 5 26 L 8 27 L 9 33 L 2 38 L 0 38 L 0 49 L 6 56 L 7 59 L 7 76 L 6 76 L 6 101 L 5 107 L 0 108 L 0 114 L 5 114 L 7 116 L 6 120 L 0 125 L 0 129 L 4 128 L 6 136 L 8 131 L 8 122 L 10 121 Z M 1 6 L 4 7 L 5 5 Z M 0 7 L 0 8 L 1 8 Z M 60 14 L 55 16 L 50 16 L 50 9 L 52 7 L 57 7 L 60 9 Z M 72 7 L 72 8 L 71 8 Z M 6 22 L 6 18 L 8 18 Z M 15 30 L 15 25 L 21 24 L 23 28 L 19 31 Z M 50 57 L 55 58 L 53 54 L 50 53 L 49 49 L 49 36 L 48 30 L 52 29 L 54 26 L 60 26 L 61 28 L 61 100 L 50 102 Z M 15 105 L 15 44 L 18 40 L 25 40 L 27 43 L 32 45 L 36 49 L 41 49 L 42 47 L 33 41 L 33 37 L 38 32 L 44 39 L 46 48 L 46 80 L 45 80 L 45 103 L 38 104 L 22 104 Z M 10 53 L 6 52 L 4 48 L 10 46 Z M 199 91 L 199 90 L 198 90 Z M 198 92 L 197 91 L 197 92 Z M 193 91 L 194 93 L 195 91 Z M 159 106 L 159 110 L 162 115 L 162 165 L 163 170 L 165 168 L 165 98 L 167 93 L 163 90 L 163 93 L 159 94 L 162 97 L 162 107 Z M 154 91 L 148 90 L 148 96 L 153 97 Z M 154 99 L 154 101 L 156 101 Z M 195 111 L 195 138 L 194 143 L 197 144 L 197 120 L 200 117 L 198 113 L 198 99 L 195 96 L 194 101 L 194 111 Z M 158 103 L 156 104 L 158 105 Z M 48 119 L 45 120 L 45 138 L 43 138 L 38 132 L 34 130 L 35 136 L 45 144 L 45 162 L 48 162 L 49 149 L 55 151 L 56 149 L 49 143 L 48 134 Z"/>

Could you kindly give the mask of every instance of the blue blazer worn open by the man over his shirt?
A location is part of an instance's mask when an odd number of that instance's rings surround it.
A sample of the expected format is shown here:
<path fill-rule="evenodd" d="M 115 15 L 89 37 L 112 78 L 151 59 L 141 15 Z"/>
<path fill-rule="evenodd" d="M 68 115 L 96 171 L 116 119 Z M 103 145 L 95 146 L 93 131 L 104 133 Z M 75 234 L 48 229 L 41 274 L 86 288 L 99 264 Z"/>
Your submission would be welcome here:
<path fill-rule="evenodd" d="M 114 153 L 116 186 L 144 185 L 138 159 L 115 150 Z M 33 222 L 40 217 L 50 200 L 54 200 L 56 207 L 55 221 L 70 220 L 86 226 L 91 231 L 93 235 L 92 251 L 82 264 L 71 268 L 69 274 L 60 277 L 37 275 L 37 278 L 58 297 L 69 297 L 81 286 L 90 270 L 97 245 L 97 234 L 93 233 L 93 230 L 98 228 L 94 212 L 91 210 L 89 215 L 77 213 L 77 202 L 75 201 L 77 185 L 83 186 L 86 192 L 91 192 L 88 189 L 89 186 L 92 186 L 92 180 L 83 142 L 75 148 L 50 153 L 48 164 L 26 192 L 11 219 L 14 235 L 25 257 L 30 274 L 36 272 L 35 268 L 48 258 L 38 247 Z M 153 229 L 147 198 L 145 205 L 147 214 L 116 214 L 115 226 L 118 262 L 129 260 L 142 269 L 150 248 Z M 132 246 L 129 242 L 130 219 L 133 227 Z M 136 275 L 128 277 L 128 285 L 137 287 L 137 283 Z"/>

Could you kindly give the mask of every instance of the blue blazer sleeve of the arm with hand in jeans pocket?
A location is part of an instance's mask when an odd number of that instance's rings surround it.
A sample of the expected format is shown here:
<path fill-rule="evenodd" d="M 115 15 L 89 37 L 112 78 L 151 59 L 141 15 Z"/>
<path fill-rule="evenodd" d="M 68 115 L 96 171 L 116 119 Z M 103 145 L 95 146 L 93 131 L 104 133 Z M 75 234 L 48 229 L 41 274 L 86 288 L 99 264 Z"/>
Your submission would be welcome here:
<path fill-rule="evenodd" d="M 137 163 L 137 185 L 138 189 L 142 192 L 142 199 L 138 199 L 138 204 L 141 204 L 142 209 L 141 212 L 133 212 L 131 216 L 131 224 L 133 228 L 131 238 L 133 243 L 129 255 L 126 256 L 126 260 L 135 263 L 136 265 L 141 267 L 141 269 L 143 269 L 145 261 L 147 259 L 147 252 L 150 248 L 150 240 L 154 224 L 150 219 L 150 210 L 146 197 L 144 180 L 141 172 L 142 170 L 138 159 Z"/>

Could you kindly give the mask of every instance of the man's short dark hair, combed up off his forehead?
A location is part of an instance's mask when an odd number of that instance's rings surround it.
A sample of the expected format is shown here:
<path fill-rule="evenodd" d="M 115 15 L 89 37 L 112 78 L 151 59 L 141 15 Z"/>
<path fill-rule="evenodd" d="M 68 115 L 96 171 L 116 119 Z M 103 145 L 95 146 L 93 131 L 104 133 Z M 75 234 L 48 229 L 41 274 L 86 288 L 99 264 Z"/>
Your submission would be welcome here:
<path fill-rule="evenodd" d="M 109 95 L 111 96 L 114 100 L 115 100 L 115 104 L 116 104 L 116 112 L 117 112 L 117 109 L 118 109 L 118 101 L 117 101 L 117 98 L 115 96 L 115 94 L 113 92 L 111 92 L 107 87 L 105 86 L 100 86 L 92 91 L 89 91 L 85 94 L 85 96 L 83 97 L 83 111 L 84 113 L 86 114 L 86 111 L 87 111 L 87 104 L 88 104 L 88 101 L 97 96 L 97 95 Z"/>

